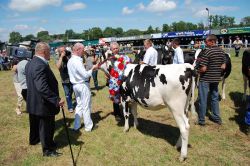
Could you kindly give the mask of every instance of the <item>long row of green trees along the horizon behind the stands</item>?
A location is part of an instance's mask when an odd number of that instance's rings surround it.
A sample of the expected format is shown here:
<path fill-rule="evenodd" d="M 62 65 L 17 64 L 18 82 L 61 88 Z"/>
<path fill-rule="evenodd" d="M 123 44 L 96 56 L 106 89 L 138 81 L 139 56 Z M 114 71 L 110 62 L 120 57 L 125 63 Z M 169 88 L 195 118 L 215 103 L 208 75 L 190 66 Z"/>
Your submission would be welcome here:
<path fill-rule="evenodd" d="M 112 28 L 106 27 L 102 30 L 99 27 L 93 27 L 88 30 L 83 30 L 81 33 L 76 33 L 72 29 L 68 29 L 64 34 L 54 34 L 50 35 L 48 31 L 40 31 L 37 33 L 37 36 L 33 34 L 29 34 L 26 36 L 22 36 L 19 32 L 11 32 L 9 34 L 9 43 L 19 43 L 22 41 L 29 41 L 31 39 L 40 39 L 41 41 L 51 42 L 56 39 L 63 40 L 67 42 L 68 39 L 84 39 L 84 40 L 93 40 L 99 39 L 103 37 L 126 37 L 126 36 L 137 36 L 144 34 L 152 34 L 152 33 L 164 33 L 164 32 L 176 32 L 176 31 L 188 31 L 188 30 L 204 30 L 204 29 L 218 29 L 218 28 L 227 28 L 227 27 L 242 27 L 242 26 L 250 26 L 250 16 L 246 16 L 241 19 L 239 24 L 235 24 L 234 17 L 228 17 L 223 15 L 211 15 L 208 18 L 209 26 L 204 25 L 203 22 L 199 22 L 198 24 L 193 24 L 191 22 L 179 21 L 173 22 L 172 24 L 163 24 L 161 28 L 149 26 L 147 30 L 138 30 L 138 29 L 129 29 L 124 31 L 123 28 Z"/>

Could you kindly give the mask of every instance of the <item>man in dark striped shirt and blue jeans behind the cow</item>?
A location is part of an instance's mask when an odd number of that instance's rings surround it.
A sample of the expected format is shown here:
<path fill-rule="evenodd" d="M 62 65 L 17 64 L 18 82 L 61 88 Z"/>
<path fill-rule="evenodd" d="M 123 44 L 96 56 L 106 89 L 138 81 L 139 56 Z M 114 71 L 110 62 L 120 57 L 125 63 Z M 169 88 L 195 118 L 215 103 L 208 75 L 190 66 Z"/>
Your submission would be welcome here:
<path fill-rule="evenodd" d="M 221 125 L 218 84 L 221 80 L 222 70 L 226 67 L 226 58 L 223 50 L 216 45 L 216 41 L 217 37 L 215 35 L 208 35 L 206 38 L 208 48 L 203 56 L 200 57 L 198 124 L 202 126 L 205 125 L 208 91 L 210 91 L 211 95 L 211 114 L 209 119 Z"/>

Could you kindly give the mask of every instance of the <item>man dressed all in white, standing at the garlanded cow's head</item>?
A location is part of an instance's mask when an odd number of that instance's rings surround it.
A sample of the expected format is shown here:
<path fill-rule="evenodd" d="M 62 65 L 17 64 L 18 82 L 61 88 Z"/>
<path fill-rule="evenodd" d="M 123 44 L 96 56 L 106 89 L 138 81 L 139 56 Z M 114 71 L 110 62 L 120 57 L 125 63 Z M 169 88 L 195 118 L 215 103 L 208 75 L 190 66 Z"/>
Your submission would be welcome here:
<path fill-rule="evenodd" d="M 82 60 L 83 53 L 83 44 L 76 43 L 73 47 L 72 57 L 67 64 L 69 79 L 73 84 L 77 102 L 74 122 L 75 131 L 79 131 L 81 127 L 81 117 L 83 117 L 84 120 L 85 131 L 91 131 L 93 128 L 93 121 L 90 116 L 91 92 L 89 88 L 89 78 L 92 76 L 92 71 L 98 68 L 98 65 L 94 65 L 90 70 L 86 71 Z"/>

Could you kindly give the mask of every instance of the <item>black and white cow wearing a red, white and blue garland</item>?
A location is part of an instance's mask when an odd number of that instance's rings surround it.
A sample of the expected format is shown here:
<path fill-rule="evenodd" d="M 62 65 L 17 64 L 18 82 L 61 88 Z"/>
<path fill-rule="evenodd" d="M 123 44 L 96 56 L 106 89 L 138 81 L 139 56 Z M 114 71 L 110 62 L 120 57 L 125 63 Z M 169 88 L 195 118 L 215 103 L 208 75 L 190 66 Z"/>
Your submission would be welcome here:
<path fill-rule="evenodd" d="M 109 73 L 112 62 L 107 60 L 100 68 Z M 124 131 L 129 130 L 129 111 L 134 116 L 134 126 L 138 126 L 137 105 L 145 109 L 169 108 L 180 129 L 176 143 L 181 148 L 180 160 L 187 157 L 189 119 L 187 106 L 190 102 L 194 67 L 190 64 L 175 65 L 138 65 L 128 64 L 124 70 L 120 87 L 125 117 Z"/>

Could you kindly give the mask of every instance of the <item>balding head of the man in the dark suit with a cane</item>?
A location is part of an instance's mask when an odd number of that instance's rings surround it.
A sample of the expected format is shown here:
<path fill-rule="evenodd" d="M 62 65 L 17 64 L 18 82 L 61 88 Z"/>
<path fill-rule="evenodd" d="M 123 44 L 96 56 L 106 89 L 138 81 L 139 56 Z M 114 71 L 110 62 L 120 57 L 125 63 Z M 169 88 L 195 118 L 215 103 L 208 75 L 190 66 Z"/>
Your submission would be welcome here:
<path fill-rule="evenodd" d="M 39 42 L 36 44 L 35 47 L 35 54 L 37 56 L 41 56 L 45 58 L 46 60 L 50 59 L 50 47 L 47 43 L 45 42 Z"/>

